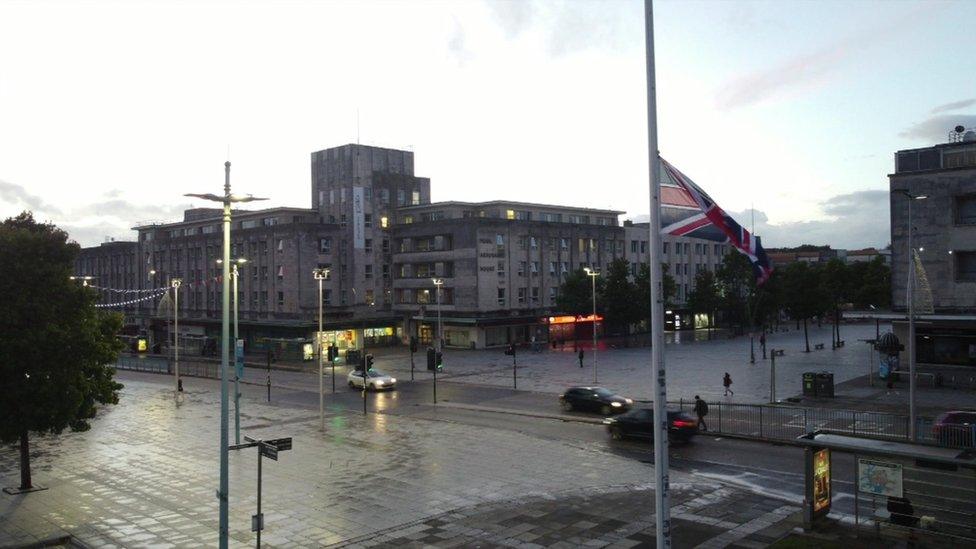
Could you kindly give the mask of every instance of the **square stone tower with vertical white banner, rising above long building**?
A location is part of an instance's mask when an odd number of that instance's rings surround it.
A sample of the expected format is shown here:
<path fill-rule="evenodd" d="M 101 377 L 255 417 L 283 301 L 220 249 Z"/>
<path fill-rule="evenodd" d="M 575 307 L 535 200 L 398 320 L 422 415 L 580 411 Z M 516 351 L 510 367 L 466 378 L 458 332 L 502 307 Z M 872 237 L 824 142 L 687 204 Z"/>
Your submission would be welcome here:
<path fill-rule="evenodd" d="M 312 209 L 322 222 L 338 223 L 331 276 L 333 305 L 369 316 L 390 310 L 392 269 L 389 230 L 398 207 L 430 203 L 430 179 L 413 175 L 413 153 L 343 145 L 312 153 Z"/>

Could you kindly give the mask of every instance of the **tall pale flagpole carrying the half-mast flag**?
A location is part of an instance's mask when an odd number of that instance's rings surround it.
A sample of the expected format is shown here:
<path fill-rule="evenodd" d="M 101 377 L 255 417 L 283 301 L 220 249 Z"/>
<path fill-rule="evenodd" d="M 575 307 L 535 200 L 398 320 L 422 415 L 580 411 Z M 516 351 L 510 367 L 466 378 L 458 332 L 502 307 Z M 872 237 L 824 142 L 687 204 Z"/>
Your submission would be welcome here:
<path fill-rule="evenodd" d="M 654 75 L 654 4 L 644 0 L 647 46 L 647 157 L 650 171 L 651 369 L 654 372 L 654 527 L 657 547 L 671 547 L 668 485 L 668 397 L 664 370 L 664 295 L 661 277 L 661 162 L 657 147 L 657 90 Z"/>

